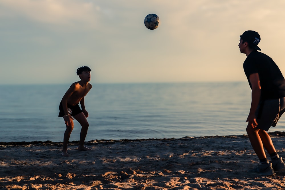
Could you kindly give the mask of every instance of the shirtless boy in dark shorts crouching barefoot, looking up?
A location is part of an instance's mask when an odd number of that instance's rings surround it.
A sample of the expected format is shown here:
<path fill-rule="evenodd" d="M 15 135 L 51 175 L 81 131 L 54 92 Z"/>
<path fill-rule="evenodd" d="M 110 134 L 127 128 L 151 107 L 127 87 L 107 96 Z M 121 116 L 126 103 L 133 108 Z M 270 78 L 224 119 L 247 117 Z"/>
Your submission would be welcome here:
<path fill-rule="evenodd" d="M 89 123 L 86 119 L 88 117 L 88 112 L 85 109 L 84 97 L 92 88 L 92 85 L 89 84 L 91 76 L 90 71 L 91 69 L 87 66 L 83 66 L 77 69 L 76 74 L 79 76 L 80 81 L 73 83 L 69 87 L 59 105 L 60 112 L 58 117 L 63 117 L 66 124 L 66 130 L 64 132 L 63 138 L 63 148 L 61 153 L 62 156 L 69 156 L 67 153 L 67 144 L 74 127 L 74 118 L 80 123 L 82 127 L 80 132 L 78 150 L 90 150 L 84 146 L 84 141 L 89 126 Z M 82 110 L 79 107 L 79 103 Z"/>

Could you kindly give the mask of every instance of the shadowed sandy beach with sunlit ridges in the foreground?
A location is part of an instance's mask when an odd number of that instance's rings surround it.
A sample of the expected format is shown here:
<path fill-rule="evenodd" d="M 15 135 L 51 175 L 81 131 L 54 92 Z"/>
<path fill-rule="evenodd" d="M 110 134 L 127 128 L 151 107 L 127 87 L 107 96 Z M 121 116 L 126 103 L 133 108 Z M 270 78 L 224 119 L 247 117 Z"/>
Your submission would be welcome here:
<path fill-rule="evenodd" d="M 270 133 L 285 158 L 284 132 Z M 0 189 L 284 189 L 285 172 L 263 177 L 247 136 L 0 142 Z"/>

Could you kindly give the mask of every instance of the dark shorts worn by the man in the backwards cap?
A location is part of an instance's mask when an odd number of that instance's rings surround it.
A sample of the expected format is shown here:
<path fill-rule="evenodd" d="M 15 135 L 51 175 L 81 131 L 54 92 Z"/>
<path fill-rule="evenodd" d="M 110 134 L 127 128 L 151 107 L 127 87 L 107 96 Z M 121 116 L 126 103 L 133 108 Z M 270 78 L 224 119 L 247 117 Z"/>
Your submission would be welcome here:
<path fill-rule="evenodd" d="M 260 102 L 255 112 L 257 128 L 268 131 L 275 127 L 281 115 L 285 112 L 285 97 Z"/>

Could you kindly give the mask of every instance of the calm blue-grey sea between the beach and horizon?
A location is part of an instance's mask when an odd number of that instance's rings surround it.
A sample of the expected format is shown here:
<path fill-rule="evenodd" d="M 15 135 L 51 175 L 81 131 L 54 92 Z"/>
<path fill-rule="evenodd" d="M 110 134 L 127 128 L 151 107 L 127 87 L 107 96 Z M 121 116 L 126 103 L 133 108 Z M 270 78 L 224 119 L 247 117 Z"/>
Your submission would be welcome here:
<path fill-rule="evenodd" d="M 246 134 L 247 82 L 92 85 L 86 141 Z M 66 126 L 58 106 L 69 87 L 0 85 L 0 142 L 62 142 Z M 284 131 L 284 119 L 269 132 Z M 79 140 L 80 130 L 75 120 L 70 141 Z"/>

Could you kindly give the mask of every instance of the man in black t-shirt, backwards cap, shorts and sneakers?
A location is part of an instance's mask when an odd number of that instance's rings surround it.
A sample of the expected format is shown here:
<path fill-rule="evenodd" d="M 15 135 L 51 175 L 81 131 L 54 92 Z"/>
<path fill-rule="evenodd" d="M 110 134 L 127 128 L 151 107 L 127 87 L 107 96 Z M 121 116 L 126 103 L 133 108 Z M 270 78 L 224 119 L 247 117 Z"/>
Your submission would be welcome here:
<path fill-rule="evenodd" d="M 261 175 L 275 175 L 274 171 L 285 170 L 282 158 L 277 154 L 268 133 L 270 126 L 276 126 L 285 111 L 285 80 L 274 61 L 258 52 L 260 36 L 248 30 L 240 36 L 239 49 L 246 54 L 243 64 L 245 75 L 251 87 L 251 108 L 246 122 L 247 134 L 261 165 L 254 170 Z M 269 163 L 264 148 L 270 155 Z"/>

